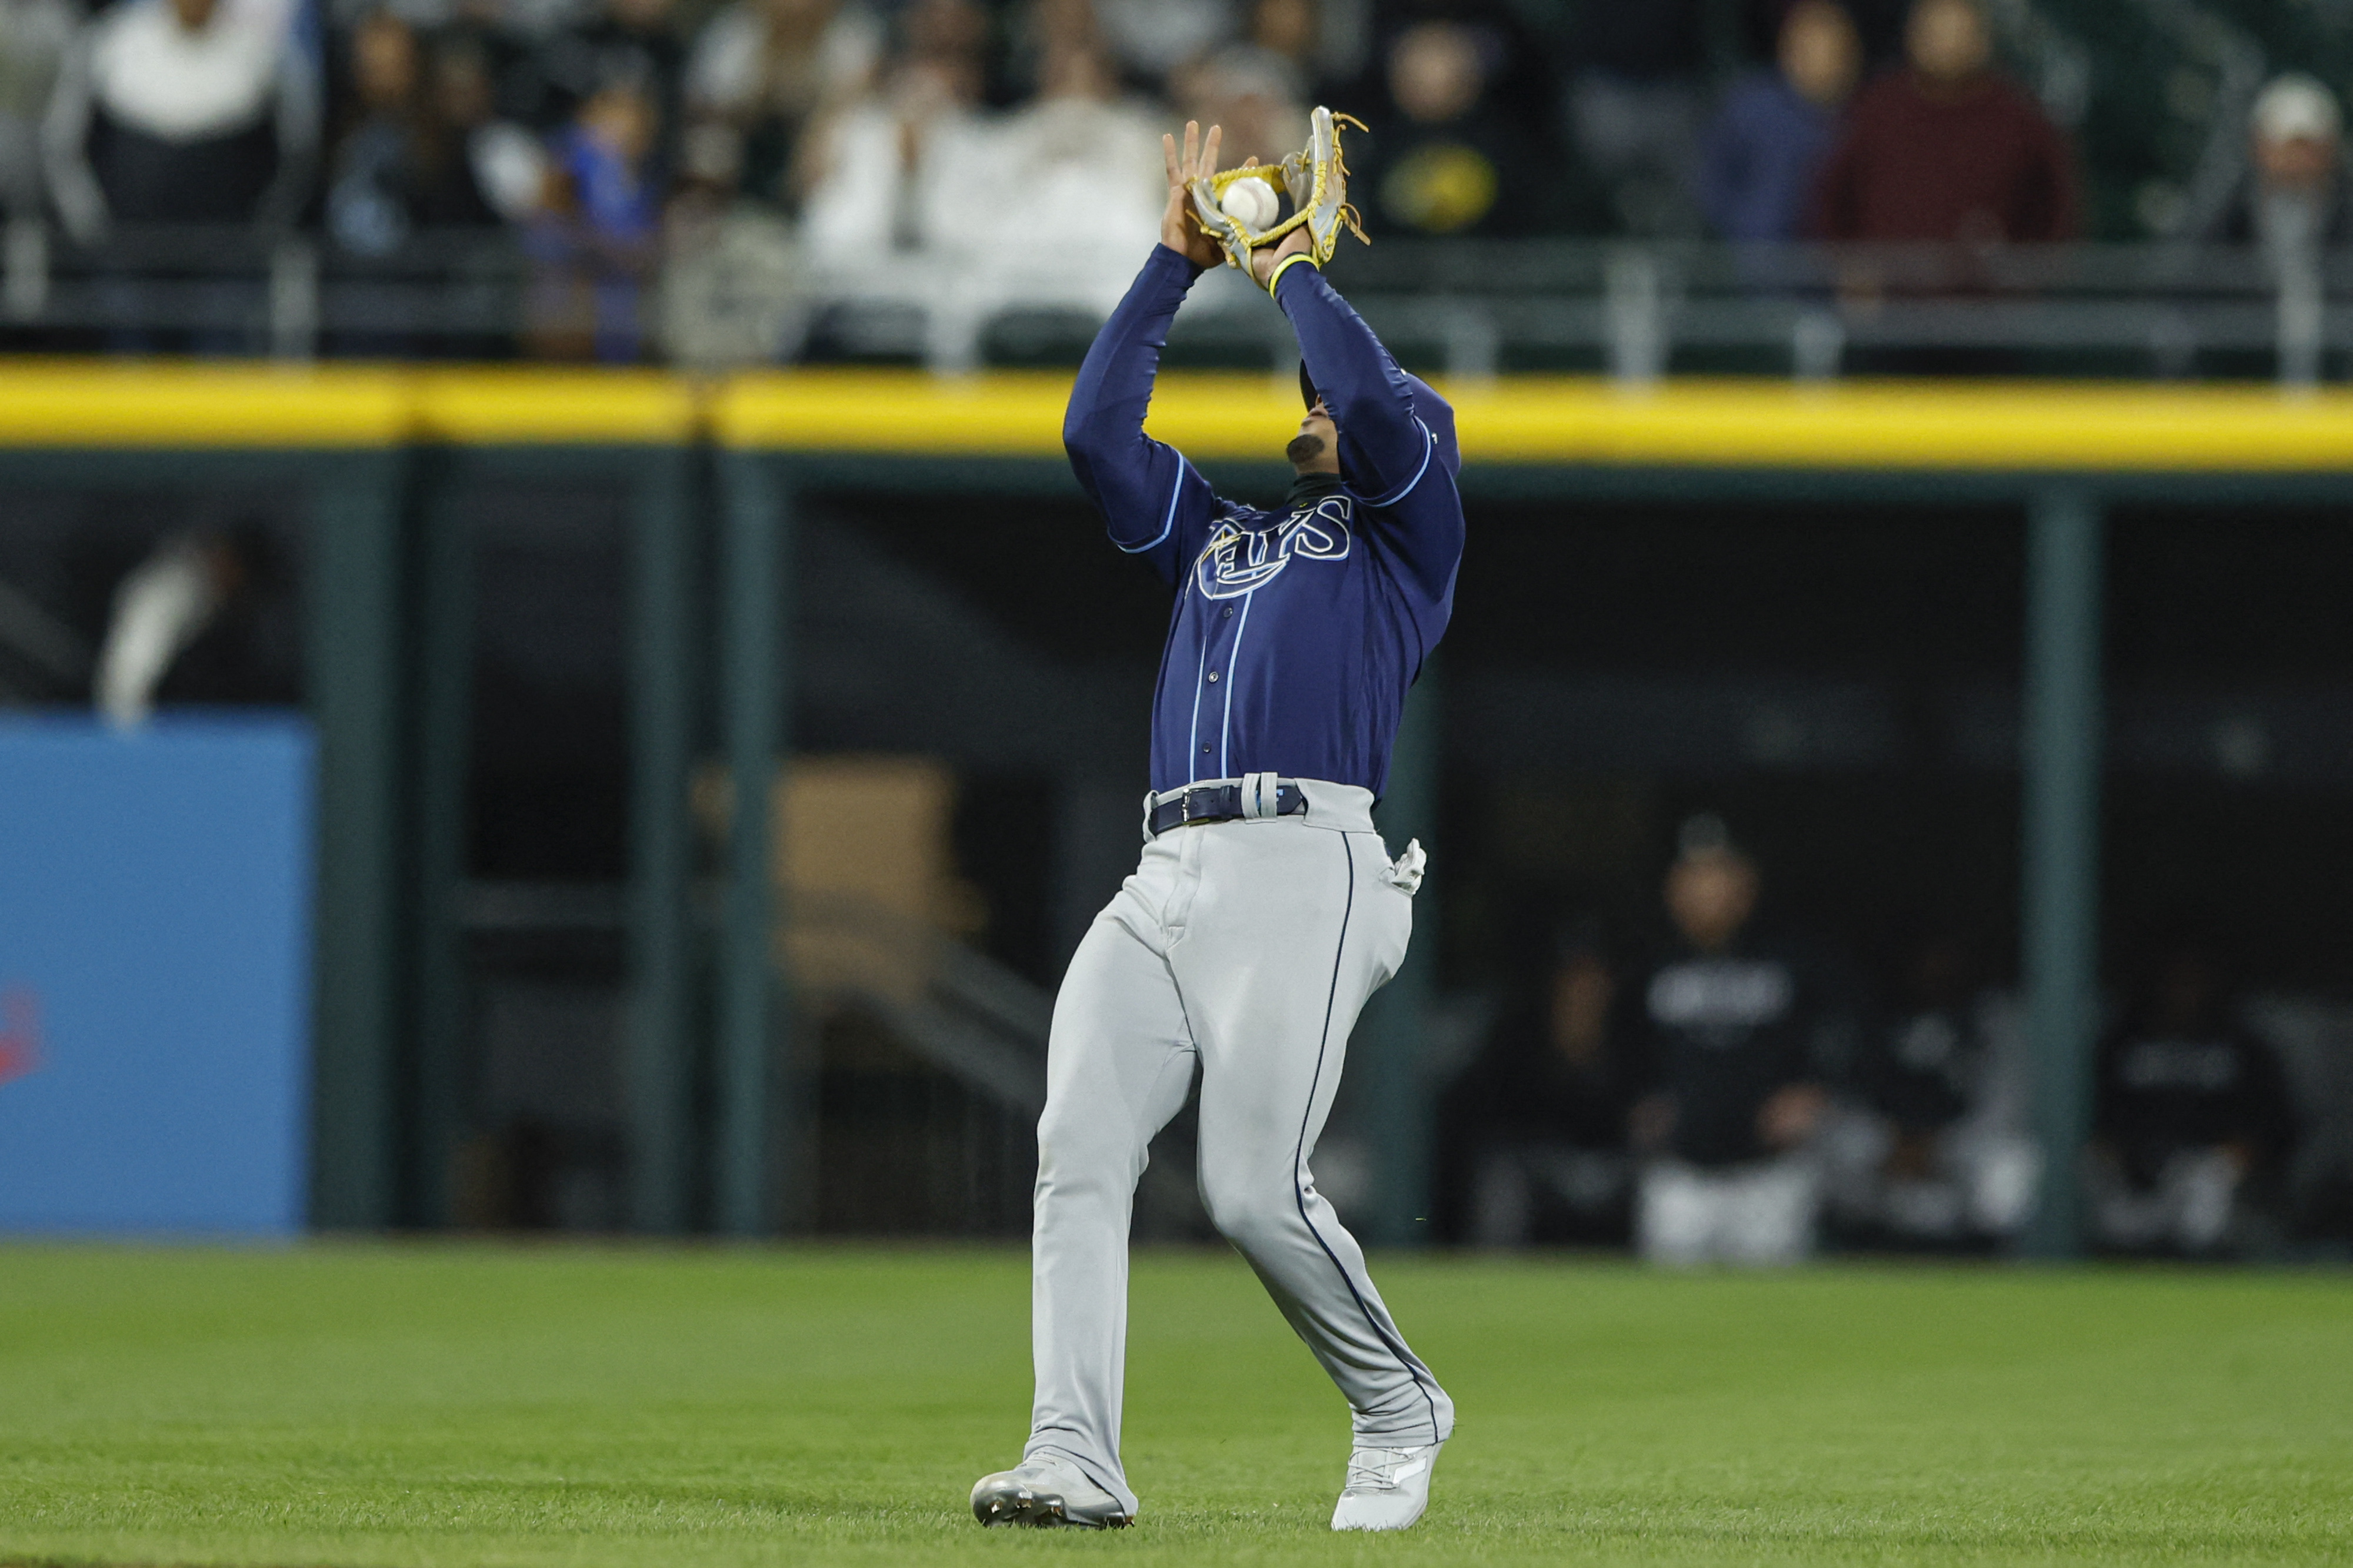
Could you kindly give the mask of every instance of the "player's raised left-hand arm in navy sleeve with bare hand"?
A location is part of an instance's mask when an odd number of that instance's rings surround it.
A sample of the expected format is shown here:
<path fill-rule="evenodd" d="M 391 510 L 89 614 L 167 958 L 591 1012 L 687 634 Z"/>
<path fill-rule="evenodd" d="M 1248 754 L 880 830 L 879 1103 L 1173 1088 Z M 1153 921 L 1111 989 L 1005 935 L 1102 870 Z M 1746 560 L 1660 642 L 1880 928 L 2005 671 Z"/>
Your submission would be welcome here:
<path fill-rule="evenodd" d="M 1186 289 L 1219 256 L 1186 195 L 1193 174 L 1217 167 L 1219 127 L 1209 127 L 1207 143 L 1198 134 L 1200 127 L 1186 122 L 1181 150 L 1174 136 L 1160 139 L 1169 176 L 1160 244 L 1094 336 L 1061 421 L 1071 468 L 1101 508 L 1111 543 L 1129 555 L 1151 552 L 1160 576 L 1176 574 L 1188 527 L 1200 524 L 1212 503 L 1209 484 L 1184 454 L 1144 435 L 1169 322 Z"/>

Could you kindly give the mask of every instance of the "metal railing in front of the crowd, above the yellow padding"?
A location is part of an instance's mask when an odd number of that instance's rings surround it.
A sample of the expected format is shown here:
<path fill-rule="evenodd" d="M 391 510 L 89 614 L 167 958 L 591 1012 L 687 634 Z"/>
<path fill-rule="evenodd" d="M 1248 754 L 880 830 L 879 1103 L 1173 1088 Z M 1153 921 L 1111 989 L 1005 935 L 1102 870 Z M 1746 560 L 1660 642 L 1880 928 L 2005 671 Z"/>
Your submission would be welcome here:
<path fill-rule="evenodd" d="M 238 228 L 78 247 L 14 221 L 0 244 L 0 346 L 285 360 L 602 350 L 960 374 L 1075 362 L 1125 287 L 1118 263 L 1078 256 L 1052 273 L 908 252 L 826 266 L 798 256 L 784 226 L 753 221 L 680 242 L 661 275 L 631 280 L 534 259 L 504 230 L 421 233 L 388 256 L 353 256 Z M 1449 376 L 1892 369 L 2311 386 L 2353 350 L 2346 252 L 1384 240 L 1344 249 L 1334 280 L 1409 362 Z M 600 303 L 581 303 L 598 287 Z M 1297 350 L 1252 294 L 1235 273 L 1205 280 L 1172 357 L 1282 371 Z M 602 310 L 602 324 L 584 310 Z"/>

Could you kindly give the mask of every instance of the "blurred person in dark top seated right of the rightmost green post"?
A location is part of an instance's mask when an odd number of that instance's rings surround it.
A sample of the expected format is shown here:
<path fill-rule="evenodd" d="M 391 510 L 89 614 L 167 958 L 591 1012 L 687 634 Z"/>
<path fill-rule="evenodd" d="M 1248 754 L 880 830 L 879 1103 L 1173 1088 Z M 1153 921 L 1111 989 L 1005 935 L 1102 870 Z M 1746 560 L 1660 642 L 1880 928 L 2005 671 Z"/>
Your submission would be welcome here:
<path fill-rule="evenodd" d="M 2092 1227 L 2127 1251 L 2217 1253 L 2294 1143 L 2287 1079 L 2233 1018 L 2219 959 L 2174 943 L 2099 1046 Z"/>

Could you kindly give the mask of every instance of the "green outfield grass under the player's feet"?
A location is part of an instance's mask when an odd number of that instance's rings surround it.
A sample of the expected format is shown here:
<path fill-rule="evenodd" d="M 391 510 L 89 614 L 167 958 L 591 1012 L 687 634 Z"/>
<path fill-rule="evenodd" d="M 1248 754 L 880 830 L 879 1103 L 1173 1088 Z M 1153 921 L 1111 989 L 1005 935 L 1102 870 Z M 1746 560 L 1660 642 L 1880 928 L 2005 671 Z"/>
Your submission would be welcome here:
<path fill-rule="evenodd" d="M 1386 1258 L 1461 1432 L 1334 1537 L 1339 1399 L 1134 1276 L 1134 1530 L 984 1533 L 1016 1251 L 0 1248 L 0 1563 L 2346 1563 L 2353 1276 Z"/>

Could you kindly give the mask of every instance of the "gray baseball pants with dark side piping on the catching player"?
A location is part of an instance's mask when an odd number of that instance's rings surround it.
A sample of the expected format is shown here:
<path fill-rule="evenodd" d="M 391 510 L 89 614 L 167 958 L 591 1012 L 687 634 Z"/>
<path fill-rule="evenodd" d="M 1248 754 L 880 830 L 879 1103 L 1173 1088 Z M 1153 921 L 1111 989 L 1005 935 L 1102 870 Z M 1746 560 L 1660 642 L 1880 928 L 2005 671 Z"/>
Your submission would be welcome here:
<path fill-rule="evenodd" d="M 1332 1382 L 1355 1441 L 1445 1441 L 1454 1401 L 1405 1347 L 1308 1159 L 1365 997 L 1405 959 L 1372 795 L 1301 780 L 1306 816 L 1172 827 L 1087 929 L 1054 1001 L 1038 1121 L 1024 1458 L 1120 1469 L 1127 1222 L 1146 1145 L 1200 1072 L 1200 1194 Z M 1271 795 L 1271 792 L 1268 792 Z"/>

